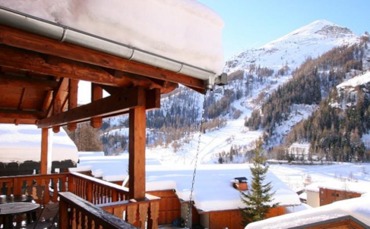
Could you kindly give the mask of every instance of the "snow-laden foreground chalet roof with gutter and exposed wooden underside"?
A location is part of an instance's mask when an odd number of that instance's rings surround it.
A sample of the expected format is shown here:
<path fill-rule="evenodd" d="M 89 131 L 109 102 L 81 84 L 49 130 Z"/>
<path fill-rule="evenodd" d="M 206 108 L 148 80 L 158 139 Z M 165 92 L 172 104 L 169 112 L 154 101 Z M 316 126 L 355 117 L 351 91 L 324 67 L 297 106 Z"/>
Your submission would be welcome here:
<path fill-rule="evenodd" d="M 178 84 L 205 93 L 226 79 L 223 25 L 190 0 L 0 0 L 0 123 L 98 127 L 130 108 L 158 108 Z M 78 81 L 93 83 L 84 106 Z"/>

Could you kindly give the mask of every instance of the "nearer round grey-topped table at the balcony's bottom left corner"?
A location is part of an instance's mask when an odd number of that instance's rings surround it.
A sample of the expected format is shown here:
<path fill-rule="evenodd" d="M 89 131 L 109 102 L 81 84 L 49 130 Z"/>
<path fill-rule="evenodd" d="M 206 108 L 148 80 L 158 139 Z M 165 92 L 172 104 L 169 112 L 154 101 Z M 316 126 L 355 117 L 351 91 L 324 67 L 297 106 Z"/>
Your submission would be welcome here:
<path fill-rule="evenodd" d="M 27 214 L 28 221 L 29 214 L 35 212 L 39 208 L 40 204 L 35 203 L 14 202 L 8 204 L 0 204 L 0 216 L 3 217 L 3 223 L 5 224 L 5 228 L 11 228 L 14 216 Z M 8 219 L 8 222 L 6 222 L 6 219 Z"/>

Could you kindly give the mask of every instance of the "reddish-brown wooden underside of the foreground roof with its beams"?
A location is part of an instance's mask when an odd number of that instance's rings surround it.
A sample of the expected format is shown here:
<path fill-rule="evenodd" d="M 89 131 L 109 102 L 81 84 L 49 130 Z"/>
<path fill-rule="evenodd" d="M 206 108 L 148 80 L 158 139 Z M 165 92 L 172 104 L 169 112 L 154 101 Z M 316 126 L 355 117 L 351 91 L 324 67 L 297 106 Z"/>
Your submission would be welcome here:
<path fill-rule="evenodd" d="M 1 23 L 1 22 L 0 22 Z M 77 105 L 80 80 L 92 82 L 92 102 Z M 61 43 L 0 25 L 0 123 L 59 126 L 160 106 L 160 94 L 188 86 L 205 93 L 202 80 L 117 56 Z M 102 98 L 102 90 L 110 96 Z M 141 94 L 145 101 L 142 101 Z"/>

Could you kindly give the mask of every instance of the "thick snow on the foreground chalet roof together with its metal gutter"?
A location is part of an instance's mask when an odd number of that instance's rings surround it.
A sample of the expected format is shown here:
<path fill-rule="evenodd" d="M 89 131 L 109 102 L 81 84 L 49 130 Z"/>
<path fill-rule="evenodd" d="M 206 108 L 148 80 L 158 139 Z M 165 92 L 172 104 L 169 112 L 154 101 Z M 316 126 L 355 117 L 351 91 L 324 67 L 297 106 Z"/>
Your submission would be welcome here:
<path fill-rule="evenodd" d="M 224 22 L 196 1 L 2 0 L 0 6 L 17 11 L 0 13 L 9 26 L 203 80 L 225 64 Z"/>

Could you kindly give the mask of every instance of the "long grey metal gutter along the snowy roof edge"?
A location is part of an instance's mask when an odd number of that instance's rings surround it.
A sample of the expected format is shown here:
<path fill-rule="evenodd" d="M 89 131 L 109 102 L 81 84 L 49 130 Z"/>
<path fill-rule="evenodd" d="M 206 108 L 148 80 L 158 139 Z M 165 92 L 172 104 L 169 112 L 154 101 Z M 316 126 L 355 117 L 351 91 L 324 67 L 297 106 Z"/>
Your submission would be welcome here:
<path fill-rule="evenodd" d="M 213 85 L 224 84 L 227 75 L 225 73 L 216 75 L 214 72 L 192 66 L 186 63 L 169 59 L 154 53 L 127 46 L 125 44 L 105 39 L 78 29 L 57 24 L 42 18 L 24 14 L 3 6 L 0 6 L 0 23 L 47 36 L 60 42 L 79 45 L 96 51 L 108 53 L 128 60 L 160 67 L 176 73 L 190 75 L 191 77 L 204 80 L 207 88 Z"/>

